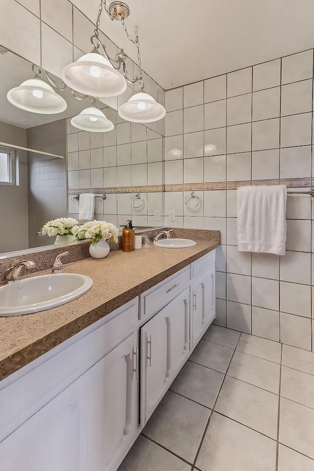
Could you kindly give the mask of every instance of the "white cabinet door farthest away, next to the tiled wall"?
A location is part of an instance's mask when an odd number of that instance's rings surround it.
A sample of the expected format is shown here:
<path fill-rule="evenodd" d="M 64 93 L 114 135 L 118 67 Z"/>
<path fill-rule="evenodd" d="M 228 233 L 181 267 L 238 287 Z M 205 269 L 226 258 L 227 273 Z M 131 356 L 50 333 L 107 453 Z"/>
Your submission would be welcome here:
<path fill-rule="evenodd" d="M 216 288 L 215 266 L 191 285 L 191 316 L 193 347 L 215 318 Z"/>

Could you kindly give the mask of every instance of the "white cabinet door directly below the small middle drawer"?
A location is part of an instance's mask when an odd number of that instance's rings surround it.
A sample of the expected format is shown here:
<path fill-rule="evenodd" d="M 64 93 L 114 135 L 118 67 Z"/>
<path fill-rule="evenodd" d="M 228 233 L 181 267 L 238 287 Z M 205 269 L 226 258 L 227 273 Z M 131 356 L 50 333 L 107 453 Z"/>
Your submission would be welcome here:
<path fill-rule="evenodd" d="M 189 352 L 189 290 L 141 328 L 142 411 L 150 418 Z"/>

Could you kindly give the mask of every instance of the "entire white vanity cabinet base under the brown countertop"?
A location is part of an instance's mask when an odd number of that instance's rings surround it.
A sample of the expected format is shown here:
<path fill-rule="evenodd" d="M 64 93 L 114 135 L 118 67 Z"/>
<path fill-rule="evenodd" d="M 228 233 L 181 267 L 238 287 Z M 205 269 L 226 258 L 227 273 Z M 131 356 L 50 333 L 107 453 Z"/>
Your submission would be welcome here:
<path fill-rule="evenodd" d="M 0 470 L 116 471 L 215 317 L 215 251 L 0 382 Z"/>

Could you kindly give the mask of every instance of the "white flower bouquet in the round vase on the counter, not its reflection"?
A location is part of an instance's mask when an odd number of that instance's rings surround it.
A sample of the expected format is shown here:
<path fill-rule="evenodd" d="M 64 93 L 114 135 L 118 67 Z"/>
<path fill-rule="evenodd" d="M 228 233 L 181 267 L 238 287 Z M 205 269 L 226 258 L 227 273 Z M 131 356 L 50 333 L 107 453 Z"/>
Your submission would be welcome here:
<path fill-rule="evenodd" d="M 101 238 L 110 242 L 118 242 L 119 230 L 113 224 L 106 221 L 88 221 L 82 226 L 72 228 L 73 235 L 77 240 L 92 239 L 94 245 Z"/>

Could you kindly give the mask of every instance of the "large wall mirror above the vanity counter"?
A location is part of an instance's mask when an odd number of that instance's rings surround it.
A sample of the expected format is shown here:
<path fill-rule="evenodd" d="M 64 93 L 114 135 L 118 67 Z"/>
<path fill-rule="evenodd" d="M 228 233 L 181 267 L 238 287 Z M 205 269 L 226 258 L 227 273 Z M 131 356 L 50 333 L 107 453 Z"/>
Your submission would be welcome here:
<path fill-rule="evenodd" d="M 57 217 L 79 220 L 81 193 L 99 196 L 95 219 L 116 226 L 127 219 L 137 227 L 163 224 L 160 134 L 123 121 L 98 102 L 113 130 L 80 131 L 71 118 L 90 105 L 89 98 L 78 100 L 68 88 L 57 91 L 67 102 L 59 114 L 19 109 L 8 102 L 7 92 L 33 77 L 32 64 L 0 47 L 0 66 L 0 254 L 53 244 L 53 237 L 38 233 Z"/>

